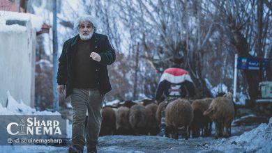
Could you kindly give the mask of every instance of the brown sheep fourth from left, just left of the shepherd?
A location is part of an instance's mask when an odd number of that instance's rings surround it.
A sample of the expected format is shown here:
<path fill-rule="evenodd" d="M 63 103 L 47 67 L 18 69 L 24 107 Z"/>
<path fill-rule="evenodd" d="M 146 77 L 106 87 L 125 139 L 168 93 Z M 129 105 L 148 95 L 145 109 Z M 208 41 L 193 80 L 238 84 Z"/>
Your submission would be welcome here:
<path fill-rule="evenodd" d="M 147 115 L 147 125 L 149 134 L 151 136 L 156 136 L 159 131 L 159 123 L 156 119 L 156 111 L 158 108 L 157 104 L 148 104 L 145 106 L 146 108 L 146 115 Z"/>

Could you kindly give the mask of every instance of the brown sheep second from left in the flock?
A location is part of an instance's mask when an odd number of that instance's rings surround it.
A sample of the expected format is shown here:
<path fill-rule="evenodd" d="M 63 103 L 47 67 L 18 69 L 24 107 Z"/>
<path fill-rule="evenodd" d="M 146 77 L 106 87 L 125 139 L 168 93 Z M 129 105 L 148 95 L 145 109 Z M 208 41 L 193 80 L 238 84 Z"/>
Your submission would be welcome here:
<path fill-rule="evenodd" d="M 129 108 L 121 106 L 117 108 L 116 112 L 116 134 L 129 135 L 130 123 L 128 120 Z"/>

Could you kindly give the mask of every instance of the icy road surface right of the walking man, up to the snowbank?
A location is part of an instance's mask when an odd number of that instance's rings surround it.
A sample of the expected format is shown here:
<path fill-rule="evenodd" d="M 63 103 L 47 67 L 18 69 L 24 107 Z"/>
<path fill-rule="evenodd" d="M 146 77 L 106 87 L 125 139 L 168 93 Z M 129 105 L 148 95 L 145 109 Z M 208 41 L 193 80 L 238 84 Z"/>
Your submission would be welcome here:
<path fill-rule="evenodd" d="M 214 138 L 174 140 L 160 136 L 103 136 L 98 141 L 98 152 L 197 152 L 202 149 L 203 141 L 213 142 Z"/>

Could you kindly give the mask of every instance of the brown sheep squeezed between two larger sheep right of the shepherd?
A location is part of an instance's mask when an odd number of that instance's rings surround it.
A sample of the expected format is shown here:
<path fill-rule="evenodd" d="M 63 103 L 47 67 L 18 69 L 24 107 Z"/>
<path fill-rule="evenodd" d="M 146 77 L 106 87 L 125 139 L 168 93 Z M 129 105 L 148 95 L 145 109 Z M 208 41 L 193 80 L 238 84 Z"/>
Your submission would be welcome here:
<path fill-rule="evenodd" d="M 194 113 L 194 118 L 190 126 L 190 131 L 192 131 L 192 137 L 200 136 L 210 136 L 211 135 L 211 119 L 207 115 L 203 115 L 204 111 L 209 108 L 209 102 L 206 99 L 196 99 L 191 104 L 192 112 Z"/>

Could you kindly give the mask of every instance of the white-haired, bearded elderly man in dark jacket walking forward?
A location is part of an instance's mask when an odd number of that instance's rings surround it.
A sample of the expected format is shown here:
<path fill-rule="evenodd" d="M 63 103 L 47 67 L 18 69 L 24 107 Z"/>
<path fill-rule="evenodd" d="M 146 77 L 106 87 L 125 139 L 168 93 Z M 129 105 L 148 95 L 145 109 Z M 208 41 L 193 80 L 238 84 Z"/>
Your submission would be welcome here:
<path fill-rule="evenodd" d="M 115 61 L 115 53 L 106 35 L 96 33 L 95 19 L 86 15 L 74 24 L 79 33 L 66 40 L 59 57 L 57 74 L 59 94 L 66 91 L 73 107 L 72 141 L 69 152 L 83 152 L 86 125 L 87 152 L 97 152 L 98 134 L 102 121 L 105 94 L 112 90 L 107 65 Z"/>

